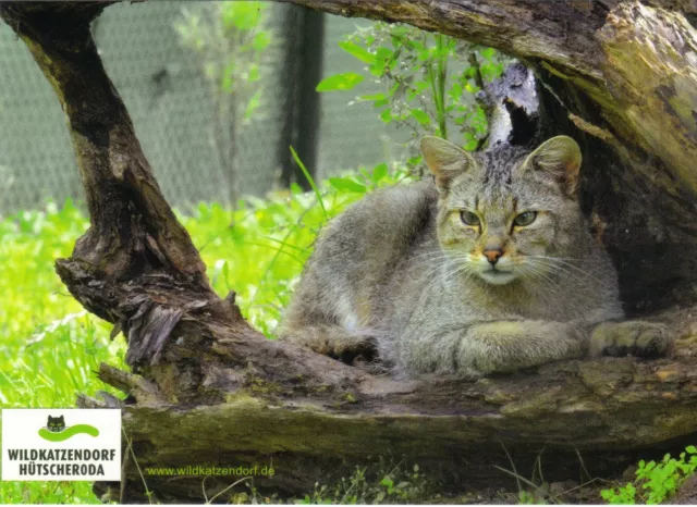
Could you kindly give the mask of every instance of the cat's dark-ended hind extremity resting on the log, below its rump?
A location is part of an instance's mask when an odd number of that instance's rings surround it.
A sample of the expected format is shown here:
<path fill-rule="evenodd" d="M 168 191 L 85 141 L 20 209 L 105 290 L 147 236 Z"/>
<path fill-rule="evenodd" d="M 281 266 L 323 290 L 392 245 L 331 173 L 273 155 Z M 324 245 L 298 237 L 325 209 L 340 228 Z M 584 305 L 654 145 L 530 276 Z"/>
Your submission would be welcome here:
<path fill-rule="evenodd" d="M 377 357 L 376 333 L 364 329 L 348 331 L 337 324 L 284 325 L 281 342 L 306 347 L 325 356 L 352 363 L 356 358 L 372 361 Z"/>

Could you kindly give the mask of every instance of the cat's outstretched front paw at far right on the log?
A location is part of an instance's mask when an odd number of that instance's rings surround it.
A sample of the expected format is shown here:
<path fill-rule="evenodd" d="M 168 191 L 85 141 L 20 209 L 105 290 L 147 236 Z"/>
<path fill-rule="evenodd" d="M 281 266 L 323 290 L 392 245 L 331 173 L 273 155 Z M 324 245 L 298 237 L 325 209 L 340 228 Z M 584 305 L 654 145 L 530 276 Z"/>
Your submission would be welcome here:
<path fill-rule="evenodd" d="M 590 336 L 591 357 L 660 357 L 670 348 L 668 326 L 657 322 L 604 322 Z"/>

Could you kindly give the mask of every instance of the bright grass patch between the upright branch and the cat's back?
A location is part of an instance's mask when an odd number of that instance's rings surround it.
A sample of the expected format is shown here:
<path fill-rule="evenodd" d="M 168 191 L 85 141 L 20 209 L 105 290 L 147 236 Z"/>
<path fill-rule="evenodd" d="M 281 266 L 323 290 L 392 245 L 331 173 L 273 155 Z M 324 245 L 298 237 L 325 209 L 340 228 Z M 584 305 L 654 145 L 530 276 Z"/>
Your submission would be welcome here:
<path fill-rule="evenodd" d="M 216 292 L 223 296 L 234 287 L 243 314 L 273 337 L 319 228 L 366 193 L 405 177 L 404 168 L 359 168 L 313 182 L 311 193 L 294 185 L 267 199 L 250 197 L 234 211 L 201 203 L 180 220 L 199 248 Z"/>

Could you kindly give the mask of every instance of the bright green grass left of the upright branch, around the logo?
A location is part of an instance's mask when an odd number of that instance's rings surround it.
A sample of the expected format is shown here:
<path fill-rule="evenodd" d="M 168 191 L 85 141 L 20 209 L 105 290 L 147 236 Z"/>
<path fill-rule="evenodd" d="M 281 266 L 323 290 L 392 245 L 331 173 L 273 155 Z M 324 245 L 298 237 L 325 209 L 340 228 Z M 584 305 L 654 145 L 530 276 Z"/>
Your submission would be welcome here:
<path fill-rule="evenodd" d="M 123 338 L 87 314 L 53 271 L 88 222 L 72 202 L 0 220 L 0 407 L 75 406 L 75 395 L 121 393 L 95 375 L 124 366 Z M 87 482 L 1 482 L 0 504 L 96 504 Z"/>

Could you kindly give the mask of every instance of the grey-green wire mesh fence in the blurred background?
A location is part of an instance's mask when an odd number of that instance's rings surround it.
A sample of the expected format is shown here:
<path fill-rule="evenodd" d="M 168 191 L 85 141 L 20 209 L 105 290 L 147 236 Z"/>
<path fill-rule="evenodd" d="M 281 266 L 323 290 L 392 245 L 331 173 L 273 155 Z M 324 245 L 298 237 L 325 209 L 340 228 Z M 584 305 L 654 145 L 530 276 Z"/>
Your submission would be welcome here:
<path fill-rule="evenodd" d="M 264 52 L 268 72 L 259 82 L 262 100 L 254 121 L 234 139 L 234 161 L 230 160 L 231 128 L 219 114 L 215 87 L 201 72 L 200 54 L 184 47 L 175 29 L 184 11 L 207 3 L 211 2 L 123 2 L 106 9 L 93 25 L 145 154 L 166 197 L 180 209 L 199 201 L 232 205 L 232 172 L 241 195 L 277 188 L 288 163 L 286 144 L 293 140 L 285 135 L 294 121 L 289 115 L 298 114 L 293 108 L 297 94 L 291 90 L 317 85 L 293 64 L 303 50 L 301 8 L 270 2 L 267 28 L 272 35 Z M 326 15 L 325 23 L 323 48 L 314 53 L 322 59 L 322 76 L 358 72 L 360 63 L 342 53 L 337 42 L 368 22 Z M 362 84 L 354 91 L 369 92 L 375 86 Z M 353 95 L 319 98 L 319 127 L 310 139 L 318 177 L 377 163 L 396 146 L 391 140 L 394 133 L 374 111 L 347 107 Z M 82 187 L 63 112 L 25 45 L 0 24 L 0 213 L 66 198 L 80 202 Z"/>

